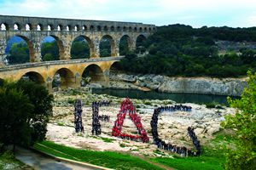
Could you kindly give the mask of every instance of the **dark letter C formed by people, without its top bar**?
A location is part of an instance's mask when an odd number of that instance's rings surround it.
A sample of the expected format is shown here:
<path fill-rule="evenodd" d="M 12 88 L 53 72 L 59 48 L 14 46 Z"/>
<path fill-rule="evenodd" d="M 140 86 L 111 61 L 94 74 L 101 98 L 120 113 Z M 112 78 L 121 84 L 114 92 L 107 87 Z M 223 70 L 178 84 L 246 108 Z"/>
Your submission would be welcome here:
<path fill-rule="evenodd" d="M 160 149 L 172 151 L 173 153 L 177 153 L 180 156 L 200 156 L 201 155 L 201 146 L 200 146 L 200 142 L 196 138 L 194 128 L 189 127 L 188 133 L 189 133 L 189 137 L 193 141 L 193 144 L 195 145 L 195 150 L 187 149 L 184 146 L 177 146 L 177 145 L 173 145 L 170 143 L 166 144 L 166 142 L 164 140 L 159 138 L 159 134 L 158 134 L 158 130 L 157 130 L 158 116 L 160 115 L 160 113 L 162 111 L 166 111 L 163 108 L 165 108 L 165 107 L 162 106 L 162 107 L 158 107 L 158 108 L 154 109 L 152 120 L 150 122 L 151 129 L 152 129 L 151 132 L 152 132 L 152 136 L 154 139 L 154 144 L 156 144 L 157 147 Z"/>

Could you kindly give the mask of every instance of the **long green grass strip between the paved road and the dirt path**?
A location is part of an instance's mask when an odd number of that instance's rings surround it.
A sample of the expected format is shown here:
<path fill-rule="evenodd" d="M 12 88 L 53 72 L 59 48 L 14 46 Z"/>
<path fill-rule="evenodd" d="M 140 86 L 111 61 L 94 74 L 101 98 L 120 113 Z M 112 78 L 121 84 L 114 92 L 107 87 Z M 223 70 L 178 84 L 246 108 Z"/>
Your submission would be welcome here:
<path fill-rule="evenodd" d="M 39 144 L 44 144 L 48 148 L 42 147 Z M 79 150 L 61 144 L 55 144 L 49 141 L 43 141 L 39 144 L 35 144 L 34 148 L 55 156 L 61 156 L 68 159 L 74 160 L 73 157 L 75 157 L 80 161 L 89 162 L 91 164 L 102 167 L 110 167 L 114 169 L 161 169 L 160 167 L 150 164 L 147 161 L 143 161 L 142 159 L 135 156 L 130 156 L 118 152 Z M 61 154 L 61 152 L 63 154 Z"/>

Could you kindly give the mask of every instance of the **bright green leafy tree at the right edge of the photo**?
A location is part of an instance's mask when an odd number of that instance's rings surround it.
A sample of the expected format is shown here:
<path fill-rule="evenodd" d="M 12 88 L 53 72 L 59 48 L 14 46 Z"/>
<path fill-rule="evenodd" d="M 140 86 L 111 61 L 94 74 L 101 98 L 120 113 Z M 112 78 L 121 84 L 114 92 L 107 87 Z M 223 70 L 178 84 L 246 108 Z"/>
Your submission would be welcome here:
<path fill-rule="evenodd" d="M 222 122 L 223 127 L 236 130 L 236 148 L 226 153 L 225 169 L 256 169 L 256 73 L 248 72 L 248 77 L 241 99 L 228 99 L 236 115 L 225 116 Z"/>

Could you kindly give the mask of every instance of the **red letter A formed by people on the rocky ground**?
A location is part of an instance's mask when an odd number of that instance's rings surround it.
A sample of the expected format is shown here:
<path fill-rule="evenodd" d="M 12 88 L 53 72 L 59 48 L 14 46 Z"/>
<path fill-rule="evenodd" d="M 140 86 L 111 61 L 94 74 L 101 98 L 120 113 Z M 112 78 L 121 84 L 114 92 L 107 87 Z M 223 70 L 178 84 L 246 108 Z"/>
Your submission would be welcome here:
<path fill-rule="evenodd" d="M 134 122 L 135 126 L 137 127 L 137 132 L 140 135 L 131 135 L 122 132 L 122 127 L 124 124 L 125 116 L 126 114 L 129 114 L 131 121 Z M 133 107 L 131 100 L 129 98 L 126 98 L 124 101 L 122 101 L 120 105 L 120 111 L 117 114 L 117 120 L 114 122 L 113 128 L 112 128 L 112 135 L 119 137 L 121 139 L 131 139 L 133 141 L 143 141 L 144 143 L 149 142 L 148 134 L 146 133 L 146 130 L 143 128 L 143 124 L 141 122 L 141 118 L 137 116 L 136 109 Z"/>

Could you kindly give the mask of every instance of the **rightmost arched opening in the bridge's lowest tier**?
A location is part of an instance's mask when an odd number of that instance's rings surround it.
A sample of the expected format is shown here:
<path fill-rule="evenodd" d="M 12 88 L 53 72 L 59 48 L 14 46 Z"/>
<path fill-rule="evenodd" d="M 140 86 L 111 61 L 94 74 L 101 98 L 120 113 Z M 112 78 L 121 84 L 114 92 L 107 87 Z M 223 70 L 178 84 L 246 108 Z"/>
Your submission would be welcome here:
<path fill-rule="evenodd" d="M 101 84 L 104 86 L 106 84 L 105 77 L 101 67 L 98 65 L 88 65 L 82 74 L 81 86 L 86 86 L 88 84 Z"/>

